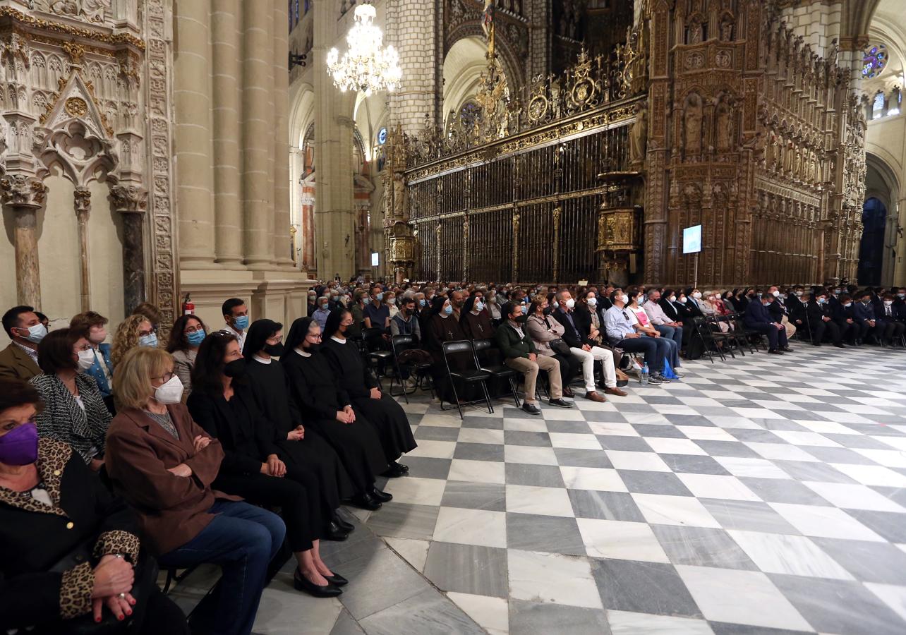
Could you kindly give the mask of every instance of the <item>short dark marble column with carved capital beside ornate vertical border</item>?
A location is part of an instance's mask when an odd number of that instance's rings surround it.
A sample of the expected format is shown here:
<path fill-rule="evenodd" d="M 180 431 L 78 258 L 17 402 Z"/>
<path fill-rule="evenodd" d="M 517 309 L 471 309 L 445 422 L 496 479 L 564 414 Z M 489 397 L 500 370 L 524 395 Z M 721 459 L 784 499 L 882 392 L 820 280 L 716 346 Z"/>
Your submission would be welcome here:
<path fill-rule="evenodd" d="M 126 313 L 145 302 L 145 210 L 148 192 L 135 186 L 111 188 L 113 207 L 122 215 L 122 278 Z"/>

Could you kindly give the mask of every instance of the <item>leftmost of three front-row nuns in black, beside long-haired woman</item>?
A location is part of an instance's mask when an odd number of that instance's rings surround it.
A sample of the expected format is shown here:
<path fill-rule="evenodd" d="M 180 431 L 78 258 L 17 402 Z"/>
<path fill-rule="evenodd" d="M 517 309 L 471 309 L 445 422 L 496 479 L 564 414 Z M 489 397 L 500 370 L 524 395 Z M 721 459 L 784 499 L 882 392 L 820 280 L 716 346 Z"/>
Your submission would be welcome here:
<path fill-rule="evenodd" d="M 242 351 L 246 377 L 255 404 L 276 430 L 280 459 L 288 469 L 308 472 L 320 481 L 324 516 L 331 519 L 324 538 L 345 540 L 354 527 L 342 520 L 337 508 L 342 498 L 354 494 L 352 481 L 333 447 L 315 430 L 302 425 L 302 415 L 286 390 L 283 365 L 271 359 L 283 354 L 282 331 L 283 324 L 279 322 L 252 322 Z"/>

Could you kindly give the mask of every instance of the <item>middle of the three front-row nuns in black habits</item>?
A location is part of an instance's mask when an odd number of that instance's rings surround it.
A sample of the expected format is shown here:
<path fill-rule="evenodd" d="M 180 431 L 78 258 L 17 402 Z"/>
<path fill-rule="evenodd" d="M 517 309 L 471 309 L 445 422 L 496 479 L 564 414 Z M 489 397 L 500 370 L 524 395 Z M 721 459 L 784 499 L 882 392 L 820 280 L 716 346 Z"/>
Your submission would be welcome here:
<path fill-rule="evenodd" d="M 333 446 L 352 477 L 356 488 L 352 503 L 377 509 L 393 498 L 374 486 L 374 476 L 389 467 L 381 438 L 361 409 L 352 407 L 352 399 L 340 388 L 320 348 L 318 322 L 310 317 L 293 322 L 280 358 L 289 393 L 305 422 Z"/>

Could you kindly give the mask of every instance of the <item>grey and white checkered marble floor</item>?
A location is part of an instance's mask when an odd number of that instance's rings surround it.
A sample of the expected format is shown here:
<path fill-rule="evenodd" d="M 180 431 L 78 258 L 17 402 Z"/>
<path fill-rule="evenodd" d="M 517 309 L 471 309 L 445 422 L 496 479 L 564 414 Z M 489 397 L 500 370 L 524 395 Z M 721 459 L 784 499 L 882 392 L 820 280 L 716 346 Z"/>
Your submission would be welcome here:
<path fill-rule="evenodd" d="M 906 352 L 796 350 L 542 417 L 410 398 L 306 632 L 906 633 Z"/>

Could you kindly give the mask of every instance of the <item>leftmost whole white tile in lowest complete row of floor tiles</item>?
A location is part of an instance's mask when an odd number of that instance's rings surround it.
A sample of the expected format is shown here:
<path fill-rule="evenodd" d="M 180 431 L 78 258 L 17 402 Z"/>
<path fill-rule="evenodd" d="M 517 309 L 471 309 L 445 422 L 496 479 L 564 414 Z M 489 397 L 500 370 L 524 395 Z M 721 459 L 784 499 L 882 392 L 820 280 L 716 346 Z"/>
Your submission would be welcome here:
<path fill-rule="evenodd" d="M 511 598 L 602 609 L 588 560 L 559 553 L 508 552 Z"/>

